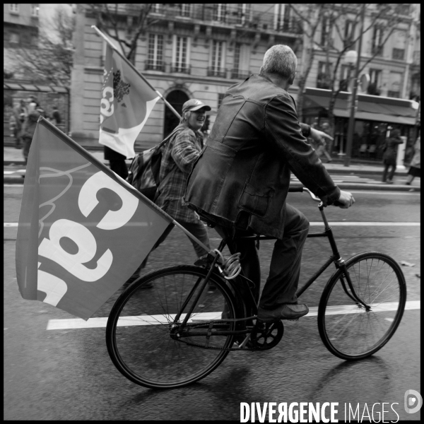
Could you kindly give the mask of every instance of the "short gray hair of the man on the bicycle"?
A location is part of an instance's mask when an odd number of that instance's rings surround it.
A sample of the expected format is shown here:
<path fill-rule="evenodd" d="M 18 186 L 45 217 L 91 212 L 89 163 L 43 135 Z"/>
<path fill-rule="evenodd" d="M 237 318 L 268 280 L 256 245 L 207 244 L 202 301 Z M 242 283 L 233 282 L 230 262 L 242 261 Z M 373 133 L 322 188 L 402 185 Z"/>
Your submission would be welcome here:
<path fill-rule="evenodd" d="M 266 50 L 261 72 L 278 73 L 283 78 L 295 78 L 298 58 L 290 47 L 275 45 Z"/>

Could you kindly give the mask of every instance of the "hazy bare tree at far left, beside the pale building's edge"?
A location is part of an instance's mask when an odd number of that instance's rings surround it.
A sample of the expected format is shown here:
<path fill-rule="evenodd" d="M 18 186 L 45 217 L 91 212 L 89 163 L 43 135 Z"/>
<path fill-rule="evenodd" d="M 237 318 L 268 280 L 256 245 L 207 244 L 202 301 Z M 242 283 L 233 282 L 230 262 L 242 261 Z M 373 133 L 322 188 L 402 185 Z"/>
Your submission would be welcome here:
<path fill-rule="evenodd" d="M 40 29 L 37 45 L 14 49 L 13 70 L 34 81 L 69 87 L 74 28 L 73 16 L 59 8 L 47 28 Z"/>

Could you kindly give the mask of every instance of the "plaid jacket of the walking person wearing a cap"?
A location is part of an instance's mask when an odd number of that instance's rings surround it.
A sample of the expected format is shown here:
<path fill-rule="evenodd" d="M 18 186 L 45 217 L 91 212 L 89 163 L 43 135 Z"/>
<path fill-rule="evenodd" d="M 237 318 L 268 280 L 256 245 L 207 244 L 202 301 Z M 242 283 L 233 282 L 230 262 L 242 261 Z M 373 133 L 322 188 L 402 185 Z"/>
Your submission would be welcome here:
<path fill-rule="evenodd" d="M 194 216 L 194 211 L 182 204 L 182 196 L 184 196 L 187 178 L 202 148 L 201 134 L 188 126 L 167 141 L 162 148 L 159 179 L 163 181 L 169 172 L 172 172 L 172 176 L 165 187 L 160 188 L 155 204 L 175 220 L 187 223 L 200 222 Z"/>

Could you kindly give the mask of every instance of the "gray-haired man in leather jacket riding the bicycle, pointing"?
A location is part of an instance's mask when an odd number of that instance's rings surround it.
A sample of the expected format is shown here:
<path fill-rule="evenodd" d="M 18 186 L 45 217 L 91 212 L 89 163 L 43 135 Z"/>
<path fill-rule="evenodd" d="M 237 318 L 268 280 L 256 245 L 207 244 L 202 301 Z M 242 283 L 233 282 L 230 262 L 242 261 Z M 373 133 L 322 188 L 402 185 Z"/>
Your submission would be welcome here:
<path fill-rule="evenodd" d="M 290 171 L 325 205 L 349 208 L 351 193 L 334 184 L 306 137 L 326 134 L 300 124 L 293 84 L 297 58 L 284 45 L 271 47 L 259 75 L 235 84 L 225 94 L 206 148 L 193 167 L 184 201 L 216 223 L 223 237 L 277 237 L 269 276 L 259 301 L 263 322 L 298 319 L 309 312 L 298 305 L 296 291 L 309 222 L 286 203 Z M 259 256 L 254 240 L 228 242 L 240 252 L 243 273 L 255 284 L 259 300 Z"/>

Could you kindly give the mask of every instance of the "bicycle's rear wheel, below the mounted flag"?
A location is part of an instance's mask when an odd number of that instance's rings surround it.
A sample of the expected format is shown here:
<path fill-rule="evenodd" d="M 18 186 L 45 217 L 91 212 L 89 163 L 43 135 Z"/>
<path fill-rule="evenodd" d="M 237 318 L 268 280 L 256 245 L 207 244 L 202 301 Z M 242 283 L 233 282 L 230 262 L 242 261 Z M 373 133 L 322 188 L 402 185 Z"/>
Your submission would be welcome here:
<path fill-rule="evenodd" d="M 205 336 L 180 340 L 171 337 L 176 314 L 191 295 L 178 320 L 182 322 L 206 273 L 197 266 L 153 271 L 119 296 L 107 320 L 106 343 L 112 362 L 126 378 L 155 389 L 182 387 L 206 377 L 222 363 L 229 352 L 222 349 L 232 346 L 233 336 L 211 336 L 209 348 L 184 343 L 204 345 Z M 201 326 L 203 320 L 204 329 L 208 329 L 211 319 L 221 318 L 224 308 L 226 318 L 236 316 L 233 296 L 225 283 L 217 276 L 212 276 L 210 281 L 216 290 L 208 291 L 206 286 L 189 319 L 196 326 Z M 149 283 L 153 283 L 152 288 L 143 288 Z M 235 329 L 233 322 L 219 325 L 220 329 Z"/>

